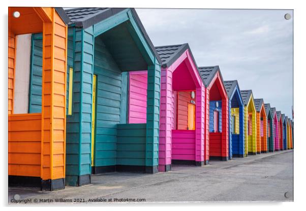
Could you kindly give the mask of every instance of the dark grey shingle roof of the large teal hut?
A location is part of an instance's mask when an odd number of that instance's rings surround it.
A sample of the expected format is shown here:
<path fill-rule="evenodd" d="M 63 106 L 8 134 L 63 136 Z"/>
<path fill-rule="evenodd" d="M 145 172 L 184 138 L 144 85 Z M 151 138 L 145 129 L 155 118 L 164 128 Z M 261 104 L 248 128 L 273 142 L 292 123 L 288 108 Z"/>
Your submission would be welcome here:
<path fill-rule="evenodd" d="M 99 23 L 106 18 L 109 18 L 113 15 L 116 15 L 117 13 L 124 11 L 128 8 L 73 8 L 69 10 L 65 10 L 66 14 L 70 18 L 69 25 L 74 25 L 76 27 L 82 27 L 87 28 L 89 26 L 92 26 L 96 23 Z M 133 14 L 133 17 L 135 18 L 137 25 L 139 26 L 145 40 L 147 41 L 148 45 L 150 46 L 151 50 L 154 52 L 155 57 L 159 61 L 160 64 L 162 64 L 162 60 L 158 53 L 155 50 L 155 47 L 153 46 L 148 34 L 146 33 L 138 15 L 134 8 L 130 8 L 131 12 Z"/>

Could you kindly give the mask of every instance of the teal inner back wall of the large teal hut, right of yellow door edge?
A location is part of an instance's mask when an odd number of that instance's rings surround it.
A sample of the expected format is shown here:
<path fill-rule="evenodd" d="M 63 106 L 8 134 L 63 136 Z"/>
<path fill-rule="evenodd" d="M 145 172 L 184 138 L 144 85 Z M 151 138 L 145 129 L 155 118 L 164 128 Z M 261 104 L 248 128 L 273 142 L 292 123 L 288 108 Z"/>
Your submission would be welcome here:
<path fill-rule="evenodd" d="M 94 74 L 97 75 L 94 163 L 95 166 L 116 165 L 117 124 L 120 123 L 123 75 L 99 37 L 95 39 L 94 64 Z"/>

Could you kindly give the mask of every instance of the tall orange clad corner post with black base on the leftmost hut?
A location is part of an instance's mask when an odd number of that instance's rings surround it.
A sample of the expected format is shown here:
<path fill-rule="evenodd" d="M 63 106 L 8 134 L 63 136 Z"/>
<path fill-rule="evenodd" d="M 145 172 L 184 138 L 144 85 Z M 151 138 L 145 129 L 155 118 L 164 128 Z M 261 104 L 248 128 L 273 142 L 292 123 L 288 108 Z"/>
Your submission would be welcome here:
<path fill-rule="evenodd" d="M 43 27 L 41 134 L 41 189 L 49 191 L 65 188 L 66 145 L 67 26 L 59 20 L 55 9 L 52 9 L 52 16 L 52 21 L 45 22 Z M 64 39 L 62 39 L 63 34 Z M 55 54 L 55 52 L 63 52 L 63 54 Z M 64 91 L 60 92 L 60 90 Z"/>

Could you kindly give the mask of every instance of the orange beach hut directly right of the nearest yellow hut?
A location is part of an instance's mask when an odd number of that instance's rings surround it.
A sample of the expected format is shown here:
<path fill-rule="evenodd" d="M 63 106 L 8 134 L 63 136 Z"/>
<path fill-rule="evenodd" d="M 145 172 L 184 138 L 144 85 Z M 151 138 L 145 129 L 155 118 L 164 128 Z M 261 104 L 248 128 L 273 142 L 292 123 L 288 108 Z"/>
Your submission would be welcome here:
<path fill-rule="evenodd" d="M 256 151 L 257 154 L 268 152 L 267 142 L 267 115 L 263 99 L 254 99 L 256 108 Z"/>

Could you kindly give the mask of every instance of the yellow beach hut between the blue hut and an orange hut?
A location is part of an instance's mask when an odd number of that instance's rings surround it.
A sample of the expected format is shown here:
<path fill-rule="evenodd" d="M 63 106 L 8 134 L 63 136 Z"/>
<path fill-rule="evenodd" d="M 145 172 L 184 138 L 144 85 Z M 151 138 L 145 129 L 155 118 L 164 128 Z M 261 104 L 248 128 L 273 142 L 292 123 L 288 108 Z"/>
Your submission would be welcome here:
<path fill-rule="evenodd" d="M 256 155 L 256 108 L 252 90 L 241 90 L 244 104 L 245 155 Z"/>

